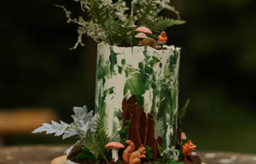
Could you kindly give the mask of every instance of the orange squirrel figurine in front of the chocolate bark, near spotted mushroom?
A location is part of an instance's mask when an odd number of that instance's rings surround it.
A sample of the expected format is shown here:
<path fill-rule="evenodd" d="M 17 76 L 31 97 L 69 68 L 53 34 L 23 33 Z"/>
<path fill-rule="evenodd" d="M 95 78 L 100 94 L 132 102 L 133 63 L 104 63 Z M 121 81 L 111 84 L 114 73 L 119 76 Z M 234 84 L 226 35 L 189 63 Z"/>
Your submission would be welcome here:
<path fill-rule="evenodd" d="M 143 144 L 138 148 L 138 150 L 135 150 L 134 142 L 131 140 L 126 140 L 125 143 L 128 145 L 125 151 L 122 153 L 122 160 L 125 161 L 127 164 L 134 164 L 134 163 L 140 163 L 140 158 L 146 158 L 146 148 Z"/>

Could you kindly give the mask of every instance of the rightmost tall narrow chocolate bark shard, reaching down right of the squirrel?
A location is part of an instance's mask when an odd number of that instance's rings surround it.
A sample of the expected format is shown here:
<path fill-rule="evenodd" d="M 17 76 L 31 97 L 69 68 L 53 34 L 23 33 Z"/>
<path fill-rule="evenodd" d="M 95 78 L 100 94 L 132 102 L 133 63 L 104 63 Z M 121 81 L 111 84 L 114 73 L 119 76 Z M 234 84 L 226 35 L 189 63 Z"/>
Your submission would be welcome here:
<path fill-rule="evenodd" d="M 152 150 L 151 150 L 151 152 L 153 154 L 152 162 L 157 161 L 156 141 L 155 141 L 154 133 L 155 133 L 154 119 L 153 119 L 152 115 L 150 115 L 150 113 L 147 113 L 145 146 L 150 146 L 152 148 Z"/>

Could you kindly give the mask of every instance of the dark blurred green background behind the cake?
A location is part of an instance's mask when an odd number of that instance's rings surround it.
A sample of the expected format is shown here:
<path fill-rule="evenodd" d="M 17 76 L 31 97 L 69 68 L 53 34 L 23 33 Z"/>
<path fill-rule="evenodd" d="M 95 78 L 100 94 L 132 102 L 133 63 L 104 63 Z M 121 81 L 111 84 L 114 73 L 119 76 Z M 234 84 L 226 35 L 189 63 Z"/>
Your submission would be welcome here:
<path fill-rule="evenodd" d="M 171 2 L 187 21 L 166 30 L 168 44 L 181 47 L 179 106 L 190 98 L 184 132 L 198 150 L 256 153 L 256 1 Z M 86 17 L 72 0 L 2 2 L 0 108 L 51 107 L 71 121 L 73 106 L 93 110 L 97 44 L 85 37 L 85 47 L 68 51 L 77 26 L 53 4 Z M 3 145 L 75 141 L 28 133 L 1 138 Z"/>

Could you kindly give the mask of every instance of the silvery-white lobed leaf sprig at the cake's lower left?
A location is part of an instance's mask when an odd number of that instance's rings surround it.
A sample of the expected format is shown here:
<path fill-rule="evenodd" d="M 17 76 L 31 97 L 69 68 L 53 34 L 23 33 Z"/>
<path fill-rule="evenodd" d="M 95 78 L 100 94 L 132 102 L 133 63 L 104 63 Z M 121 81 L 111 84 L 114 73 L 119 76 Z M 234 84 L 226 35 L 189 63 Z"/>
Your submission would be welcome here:
<path fill-rule="evenodd" d="M 55 133 L 55 136 L 62 136 L 63 139 L 68 137 L 77 137 L 78 141 L 66 151 L 69 154 L 72 150 L 84 147 L 95 130 L 92 125 L 96 123 L 97 115 L 93 115 L 93 111 L 87 112 L 86 106 L 74 107 L 75 115 L 71 115 L 73 122 L 71 124 L 60 121 L 60 123 L 52 121 L 52 124 L 43 123 L 32 133 L 46 132 L 46 134 Z"/>

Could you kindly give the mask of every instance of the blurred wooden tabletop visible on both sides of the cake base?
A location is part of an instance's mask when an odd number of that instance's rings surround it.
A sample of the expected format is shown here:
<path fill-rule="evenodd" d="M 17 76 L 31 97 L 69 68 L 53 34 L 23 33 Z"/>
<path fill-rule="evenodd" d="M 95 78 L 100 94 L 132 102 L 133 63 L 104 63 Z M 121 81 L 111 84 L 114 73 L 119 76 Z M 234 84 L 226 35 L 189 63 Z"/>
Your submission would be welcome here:
<path fill-rule="evenodd" d="M 66 164 L 63 152 L 68 146 L 10 146 L 0 147 L 0 164 Z M 229 152 L 198 152 L 208 164 L 255 164 L 256 155 Z M 62 157 L 59 157 L 62 156 Z M 59 158 L 56 158 L 59 157 Z M 56 158 L 55 160 L 53 160 Z"/>

